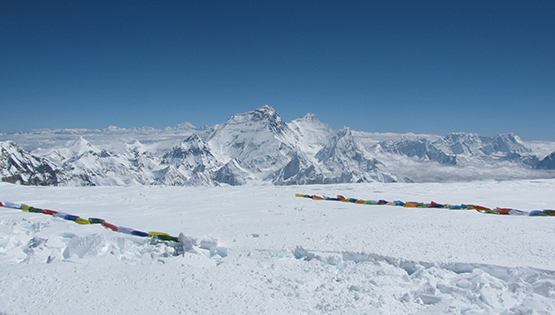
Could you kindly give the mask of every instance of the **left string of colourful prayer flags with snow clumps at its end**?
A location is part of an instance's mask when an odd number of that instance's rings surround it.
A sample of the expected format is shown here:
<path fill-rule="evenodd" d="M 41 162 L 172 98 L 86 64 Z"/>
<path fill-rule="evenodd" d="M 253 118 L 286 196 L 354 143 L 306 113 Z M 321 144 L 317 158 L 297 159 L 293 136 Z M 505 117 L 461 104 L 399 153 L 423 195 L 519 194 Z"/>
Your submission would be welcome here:
<path fill-rule="evenodd" d="M 9 201 L 4 201 L 4 202 L 0 201 L 0 207 L 19 209 L 25 212 L 47 214 L 56 218 L 62 218 L 64 220 L 74 221 L 75 223 L 81 224 L 81 225 L 100 224 L 103 227 L 110 229 L 114 232 L 120 232 L 120 233 L 135 235 L 139 237 L 150 237 L 153 240 L 162 241 L 162 242 L 175 242 L 175 243 L 179 243 L 180 245 L 179 247 L 182 247 L 182 251 L 180 252 L 191 252 L 193 249 L 193 246 L 199 246 L 202 249 L 209 250 L 211 257 L 214 255 L 219 255 L 221 257 L 227 256 L 227 249 L 223 247 L 218 247 L 217 242 L 213 240 L 212 241 L 203 240 L 199 245 L 199 244 L 196 244 L 196 241 L 194 239 L 190 237 L 186 237 L 185 235 L 183 235 L 183 233 L 179 233 L 179 236 L 175 237 L 175 236 L 171 236 L 168 233 L 163 233 L 163 232 L 143 232 L 143 231 L 135 230 L 128 227 L 117 226 L 106 222 L 104 219 L 99 219 L 99 218 L 83 219 L 77 215 L 72 215 L 65 212 L 59 212 L 59 211 L 48 210 L 48 209 L 40 209 L 40 208 L 31 207 L 25 204 L 19 204 L 19 203 L 14 203 Z"/>

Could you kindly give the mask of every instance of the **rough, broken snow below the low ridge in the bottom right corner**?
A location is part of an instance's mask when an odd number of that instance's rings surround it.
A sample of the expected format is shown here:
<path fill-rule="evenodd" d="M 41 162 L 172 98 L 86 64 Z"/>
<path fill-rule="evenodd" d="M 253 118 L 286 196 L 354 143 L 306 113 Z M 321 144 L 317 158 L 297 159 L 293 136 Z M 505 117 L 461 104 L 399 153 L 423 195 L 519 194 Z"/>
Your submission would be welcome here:
<path fill-rule="evenodd" d="M 555 306 L 555 272 L 468 263 L 426 263 L 368 253 L 315 252 L 297 247 L 297 259 L 334 266 L 339 273 L 326 290 L 342 298 L 319 305 L 336 311 L 352 299 L 355 312 L 377 309 L 427 313 L 549 313 Z M 330 287 L 333 284 L 334 288 Z M 324 289 L 324 288 L 322 288 Z M 318 291 L 318 290 L 317 290 Z"/>

